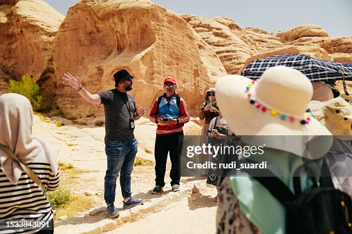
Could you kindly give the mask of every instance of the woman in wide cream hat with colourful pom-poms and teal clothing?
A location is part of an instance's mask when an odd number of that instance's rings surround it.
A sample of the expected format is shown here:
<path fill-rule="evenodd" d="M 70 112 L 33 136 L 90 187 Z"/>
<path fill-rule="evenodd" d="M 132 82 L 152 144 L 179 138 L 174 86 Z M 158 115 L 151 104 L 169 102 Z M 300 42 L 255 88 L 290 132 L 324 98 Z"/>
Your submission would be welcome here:
<path fill-rule="evenodd" d="M 216 96 L 221 114 L 241 141 L 263 147 L 263 153 L 253 152 L 247 158 L 267 162 L 272 173 L 291 191 L 292 177 L 302 166 L 302 157 L 322 157 L 332 144 L 331 137 L 325 137 L 309 153 L 302 144 L 305 135 L 331 136 L 319 121 L 306 115 L 313 87 L 302 72 L 277 66 L 266 70 L 258 82 L 228 75 L 216 82 Z M 303 190 L 310 188 L 306 177 L 301 177 L 301 181 Z M 256 179 L 224 179 L 217 233 L 285 233 L 285 224 L 284 206 Z"/>

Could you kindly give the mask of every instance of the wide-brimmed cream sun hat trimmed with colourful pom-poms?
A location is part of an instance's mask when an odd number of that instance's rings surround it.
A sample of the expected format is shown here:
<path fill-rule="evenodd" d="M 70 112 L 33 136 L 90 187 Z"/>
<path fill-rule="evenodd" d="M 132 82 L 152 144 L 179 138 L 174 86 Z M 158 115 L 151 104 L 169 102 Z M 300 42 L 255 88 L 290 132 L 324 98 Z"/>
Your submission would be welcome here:
<path fill-rule="evenodd" d="M 281 136 L 269 137 L 275 140 L 267 146 L 300 156 L 304 147 L 290 146 L 295 137 L 287 136 L 331 136 L 319 121 L 306 114 L 312 97 L 311 81 L 302 72 L 286 66 L 269 68 L 257 82 L 241 75 L 228 75 L 216 82 L 218 106 L 236 135 Z M 328 142 L 324 144 L 329 149 L 333 139 L 326 138 Z"/>

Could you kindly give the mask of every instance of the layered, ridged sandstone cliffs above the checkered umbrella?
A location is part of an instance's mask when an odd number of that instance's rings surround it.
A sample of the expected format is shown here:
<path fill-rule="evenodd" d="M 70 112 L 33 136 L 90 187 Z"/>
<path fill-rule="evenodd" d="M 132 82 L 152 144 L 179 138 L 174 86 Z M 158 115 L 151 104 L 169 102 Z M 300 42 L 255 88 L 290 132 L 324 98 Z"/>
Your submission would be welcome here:
<path fill-rule="evenodd" d="M 278 53 L 302 53 L 319 59 L 352 62 L 352 37 L 329 37 L 319 26 L 301 25 L 270 33 L 240 28 L 232 19 L 181 15 L 219 55 L 226 71 L 237 74 L 250 61 Z"/>

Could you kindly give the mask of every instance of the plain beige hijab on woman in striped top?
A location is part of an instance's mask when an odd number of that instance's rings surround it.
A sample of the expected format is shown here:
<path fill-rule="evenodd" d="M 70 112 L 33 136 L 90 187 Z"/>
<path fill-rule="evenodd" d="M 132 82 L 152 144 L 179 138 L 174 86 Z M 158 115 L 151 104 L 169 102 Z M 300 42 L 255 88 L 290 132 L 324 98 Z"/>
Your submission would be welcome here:
<path fill-rule="evenodd" d="M 32 136 L 32 126 L 33 110 L 26 97 L 15 93 L 0 96 L 0 144 L 8 146 L 24 164 L 32 162 L 44 148 L 56 175 L 56 155 L 50 152 L 45 142 Z M 17 184 L 22 173 L 21 166 L 3 150 L 0 150 L 0 168 L 12 184 Z"/>

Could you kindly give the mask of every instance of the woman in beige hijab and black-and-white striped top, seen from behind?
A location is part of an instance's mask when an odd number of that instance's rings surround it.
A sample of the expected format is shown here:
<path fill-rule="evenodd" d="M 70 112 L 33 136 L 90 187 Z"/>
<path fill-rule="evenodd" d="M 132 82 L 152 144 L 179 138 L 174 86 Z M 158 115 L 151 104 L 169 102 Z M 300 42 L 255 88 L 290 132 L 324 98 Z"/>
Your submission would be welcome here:
<path fill-rule="evenodd" d="M 0 96 L 0 233 L 53 233 L 48 199 L 8 150 L 33 170 L 44 192 L 55 190 L 59 186 L 56 155 L 32 136 L 32 126 L 33 110 L 26 97 L 15 93 Z"/>

